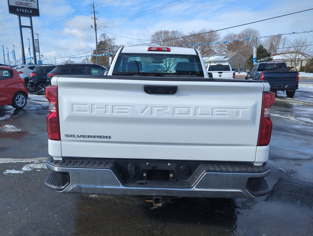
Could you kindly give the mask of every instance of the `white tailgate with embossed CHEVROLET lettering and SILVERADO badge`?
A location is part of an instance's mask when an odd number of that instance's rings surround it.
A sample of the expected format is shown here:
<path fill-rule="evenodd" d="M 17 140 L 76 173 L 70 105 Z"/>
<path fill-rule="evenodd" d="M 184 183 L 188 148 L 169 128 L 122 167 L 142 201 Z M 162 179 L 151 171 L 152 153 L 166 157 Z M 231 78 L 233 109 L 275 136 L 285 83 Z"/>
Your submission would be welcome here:
<path fill-rule="evenodd" d="M 252 162 L 269 90 L 261 81 L 66 76 L 57 85 L 62 156 L 107 159 Z M 177 92 L 147 94 L 144 86 Z"/>

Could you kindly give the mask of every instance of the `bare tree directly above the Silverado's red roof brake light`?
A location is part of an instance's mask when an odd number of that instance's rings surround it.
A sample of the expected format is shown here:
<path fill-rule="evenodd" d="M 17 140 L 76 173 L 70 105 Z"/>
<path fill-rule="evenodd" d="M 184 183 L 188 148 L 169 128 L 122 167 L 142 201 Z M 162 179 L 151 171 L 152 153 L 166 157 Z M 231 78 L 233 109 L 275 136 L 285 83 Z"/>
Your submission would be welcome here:
<path fill-rule="evenodd" d="M 177 46 L 184 45 L 184 39 L 179 39 L 186 36 L 186 34 L 179 30 L 158 30 L 151 35 L 151 45 L 155 46 Z"/>

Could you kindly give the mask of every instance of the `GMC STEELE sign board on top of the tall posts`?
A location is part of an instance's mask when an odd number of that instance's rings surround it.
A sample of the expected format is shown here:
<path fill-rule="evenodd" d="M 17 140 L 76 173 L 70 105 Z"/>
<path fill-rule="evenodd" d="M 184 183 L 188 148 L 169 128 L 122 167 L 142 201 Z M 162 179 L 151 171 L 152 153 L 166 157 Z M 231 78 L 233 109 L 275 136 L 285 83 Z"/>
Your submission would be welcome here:
<path fill-rule="evenodd" d="M 39 16 L 38 0 L 8 0 L 9 13 L 18 16 Z"/>

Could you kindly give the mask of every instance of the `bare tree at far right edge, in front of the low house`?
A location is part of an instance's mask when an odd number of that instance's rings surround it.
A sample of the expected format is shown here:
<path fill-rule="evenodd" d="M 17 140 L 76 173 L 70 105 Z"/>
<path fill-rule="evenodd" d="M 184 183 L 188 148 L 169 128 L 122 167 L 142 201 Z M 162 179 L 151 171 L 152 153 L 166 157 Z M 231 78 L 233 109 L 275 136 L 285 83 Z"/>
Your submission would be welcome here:
<path fill-rule="evenodd" d="M 297 66 L 301 65 L 301 60 L 305 59 L 304 55 L 309 56 L 308 54 L 312 54 L 312 45 L 307 38 L 300 37 L 293 39 L 287 47 L 287 50 L 289 53 L 286 53 L 285 56 L 292 60 L 296 70 Z"/>

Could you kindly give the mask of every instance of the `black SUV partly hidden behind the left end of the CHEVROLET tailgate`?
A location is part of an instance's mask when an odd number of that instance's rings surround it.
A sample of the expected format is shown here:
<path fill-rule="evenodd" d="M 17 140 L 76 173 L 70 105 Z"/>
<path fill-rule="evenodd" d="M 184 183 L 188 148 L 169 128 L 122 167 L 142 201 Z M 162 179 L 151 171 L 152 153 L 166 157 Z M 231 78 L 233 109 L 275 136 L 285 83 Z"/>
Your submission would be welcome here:
<path fill-rule="evenodd" d="M 98 75 L 103 76 L 106 69 L 97 64 L 65 64 L 57 65 L 47 74 L 47 85 L 51 85 L 51 79 L 55 75 Z"/>

